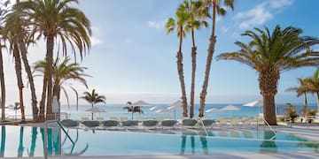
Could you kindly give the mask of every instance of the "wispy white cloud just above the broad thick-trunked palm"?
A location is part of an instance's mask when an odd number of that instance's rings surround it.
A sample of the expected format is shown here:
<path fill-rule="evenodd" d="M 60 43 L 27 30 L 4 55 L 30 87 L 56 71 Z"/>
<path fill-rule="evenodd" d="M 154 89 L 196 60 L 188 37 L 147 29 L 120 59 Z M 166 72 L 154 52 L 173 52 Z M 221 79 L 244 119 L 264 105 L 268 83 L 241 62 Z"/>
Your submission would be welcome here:
<path fill-rule="evenodd" d="M 235 19 L 244 19 L 238 27 L 240 29 L 247 29 L 260 26 L 265 24 L 269 19 L 272 19 L 273 15 L 266 10 L 266 5 L 267 3 L 264 2 L 249 11 L 238 12 Z"/>

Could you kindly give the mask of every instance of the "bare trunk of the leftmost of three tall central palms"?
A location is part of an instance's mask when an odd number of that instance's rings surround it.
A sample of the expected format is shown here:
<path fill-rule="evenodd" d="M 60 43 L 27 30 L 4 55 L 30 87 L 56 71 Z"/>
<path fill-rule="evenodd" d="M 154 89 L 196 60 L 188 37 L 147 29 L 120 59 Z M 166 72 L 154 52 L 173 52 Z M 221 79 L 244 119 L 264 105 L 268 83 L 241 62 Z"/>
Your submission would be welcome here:
<path fill-rule="evenodd" d="M 187 98 L 186 98 L 186 89 L 185 89 L 185 81 L 183 76 L 183 53 L 182 53 L 182 44 L 183 44 L 183 27 L 180 28 L 180 43 L 179 49 L 176 55 L 177 58 L 177 71 L 181 83 L 181 90 L 182 90 L 182 104 L 183 104 L 183 117 L 187 117 Z"/>

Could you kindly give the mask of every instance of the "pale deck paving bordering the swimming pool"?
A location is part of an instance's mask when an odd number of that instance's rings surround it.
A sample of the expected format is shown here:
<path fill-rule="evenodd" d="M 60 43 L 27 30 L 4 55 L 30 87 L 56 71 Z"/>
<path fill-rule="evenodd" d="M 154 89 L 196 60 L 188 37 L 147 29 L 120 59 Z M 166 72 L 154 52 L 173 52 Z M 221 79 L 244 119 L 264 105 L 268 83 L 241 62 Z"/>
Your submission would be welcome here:
<path fill-rule="evenodd" d="M 34 124 L 35 125 L 35 124 Z M 37 125 L 36 126 L 41 126 Z M 236 129 L 236 127 L 233 127 Z M 292 133 L 297 136 L 301 136 L 302 138 L 306 138 L 308 140 L 314 140 L 319 143 L 319 125 L 276 125 L 273 126 L 276 132 L 283 133 Z M 218 130 L 221 131 L 223 128 L 214 128 L 209 129 L 209 131 Z M 231 130 L 232 128 L 227 128 L 226 130 Z M 267 126 L 260 125 L 259 129 L 268 129 Z M 138 132 L 138 133 L 165 133 L 165 131 L 173 132 L 173 133 L 182 133 L 183 131 L 192 131 L 197 133 L 202 133 L 203 131 L 200 129 L 116 129 L 112 131 L 126 131 L 126 132 Z M 9 158 L 19 158 L 19 157 L 9 157 Z M 26 158 L 26 157 L 24 157 Z M 33 157 L 33 158 L 43 158 L 43 157 Z M 258 159 L 268 159 L 268 158 L 319 158 L 319 153 L 308 153 L 308 152 L 295 152 L 295 153 L 214 153 L 210 155 L 104 155 L 104 156 L 51 156 L 48 158 L 67 158 L 67 159 L 102 159 L 102 158 L 113 158 L 113 159 L 208 159 L 208 158 L 235 158 L 235 159 L 243 159 L 243 158 L 258 158 Z"/>

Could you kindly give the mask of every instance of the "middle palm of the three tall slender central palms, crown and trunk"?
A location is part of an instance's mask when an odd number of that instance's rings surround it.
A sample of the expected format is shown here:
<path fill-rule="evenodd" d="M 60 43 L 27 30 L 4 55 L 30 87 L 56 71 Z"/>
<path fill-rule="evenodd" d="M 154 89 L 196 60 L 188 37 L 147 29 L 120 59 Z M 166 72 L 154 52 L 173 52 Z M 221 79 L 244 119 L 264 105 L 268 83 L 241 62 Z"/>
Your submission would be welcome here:
<path fill-rule="evenodd" d="M 190 102 L 190 117 L 194 116 L 194 96 L 195 96 L 195 77 L 196 77 L 196 44 L 195 44 L 195 29 L 207 27 L 206 18 L 210 17 L 208 7 L 201 1 L 185 0 L 180 7 L 181 10 L 190 12 L 190 19 L 187 20 L 185 32 L 191 32 L 191 102 Z"/>

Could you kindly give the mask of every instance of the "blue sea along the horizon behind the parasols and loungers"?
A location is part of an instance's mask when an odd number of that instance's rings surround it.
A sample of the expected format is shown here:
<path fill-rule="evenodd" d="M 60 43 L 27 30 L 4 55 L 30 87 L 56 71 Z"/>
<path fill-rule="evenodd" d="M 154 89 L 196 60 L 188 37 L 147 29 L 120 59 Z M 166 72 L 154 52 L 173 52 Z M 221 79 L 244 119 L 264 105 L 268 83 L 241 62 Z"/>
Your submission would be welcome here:
<path fill-rule="evenodd" d="M 293 104 L 293 103 L 292 103 Z M 259 113 L 262 113 L 262 107 L 247 107 L 243 104 L 232 104 L 236 106 L 239 110 L 220 110 L 230 104 L 206 104 L 205 111 L 213 108 L 218 109 L 213 112 L 205 112 L 204 116 L 207 118 L 231 118 L 231 117 L 256 117 Z M 302 115 L 304 110 L 303 104 L 293 104 L 296 108 L 296 112 Z M 132 117 L 132 113 L 128 110 L 124 110 L 123 107 L 127 106 L 125 104 L 96 104 L 95 105 L 101 112 L 94 112 L 93 117 L 104 117 L 109 119 L 109 117 Z M 155 107 L 155 108 L 154 108 Z M 180 119 L 183 117 L 182 108 L 176 108 L 173 110 L 167 110 L 169 104 L 152 104 L 150 106 L 143 106 L 143 114 L 134 113 L 134 118 L 136 117 L 170 117 Z M 61 106 L 61 116 L 62 118 L 71 118 L 75 120 L 81 120 L 82 117 L 91 117 L 92 112 L 87 111 L 91 108 L 90 104 L 78 105 L 67 105 Z M 284 115 L 289 107 L 286 104 L 276 104 L 276 114 Z M 195 104 L 194 107 L 194 117 L 198 117 L 199 104 Z M 310 103 L 307 105 L 308 110 L 316 110 L 316 103 Z M 6 117 L 9 118 L 19 118 L 20 110 L 6 109 Z M 188 113 L 190 112 L 188 108 Z M 32 117 L 31 109 L 26 109 L 26 116 Z"/>

